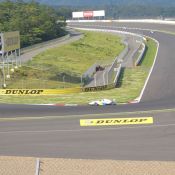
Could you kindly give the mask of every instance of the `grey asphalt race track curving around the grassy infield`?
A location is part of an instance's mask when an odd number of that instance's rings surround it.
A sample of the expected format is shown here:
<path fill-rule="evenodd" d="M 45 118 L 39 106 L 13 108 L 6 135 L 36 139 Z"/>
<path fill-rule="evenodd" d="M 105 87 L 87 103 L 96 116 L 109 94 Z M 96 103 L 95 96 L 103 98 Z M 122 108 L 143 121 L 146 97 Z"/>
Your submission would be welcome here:
<path fill-rule="evenodd" d="M 103 24 L 96 25 L 100 28 Z M 121 25 L 175 32 L 171 25 L 112 23 L 112 28 L 104 25 L 110 29 Z M 135 29 L 132 32 L 151 36 L 160 43 L 156 64 L 139 104 L 64 108 L 2 104 L 0 155 L 174 161 L 175 36 Z M 154 124 L 112 127 L 79 124 L 80 119 L 108 117 L 153 117 Z"/>

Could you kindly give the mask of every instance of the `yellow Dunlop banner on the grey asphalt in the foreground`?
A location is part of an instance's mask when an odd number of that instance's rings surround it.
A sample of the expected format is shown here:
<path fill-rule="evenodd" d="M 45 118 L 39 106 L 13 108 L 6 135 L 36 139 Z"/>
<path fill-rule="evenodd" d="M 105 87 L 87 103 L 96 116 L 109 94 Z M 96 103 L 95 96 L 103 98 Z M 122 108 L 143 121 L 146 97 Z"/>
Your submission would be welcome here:
<path fill-rule="evenodd" d="M 143 125 L 153 124 L 152 117 L 140 118 L 105 118 L 80 120 L 80 126 L 110 126 L 110 125 Z"/>

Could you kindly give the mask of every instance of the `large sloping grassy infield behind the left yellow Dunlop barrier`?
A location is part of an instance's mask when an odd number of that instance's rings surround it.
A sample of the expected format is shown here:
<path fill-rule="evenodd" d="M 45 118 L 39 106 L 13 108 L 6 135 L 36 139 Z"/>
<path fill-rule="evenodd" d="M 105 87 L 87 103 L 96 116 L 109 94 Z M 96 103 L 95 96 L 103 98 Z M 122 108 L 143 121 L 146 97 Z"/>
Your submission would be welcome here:
<path fill-rule="evenodd" d="M 125 47 L 116 35 L 83 33 L 79 41 L 37 55 L 12 75 L 8 88 L 41 88 L 39 84 L 50 89 L 80 86 L 80 77 L 89 67 L 97 62 L 111 63 Z"/>

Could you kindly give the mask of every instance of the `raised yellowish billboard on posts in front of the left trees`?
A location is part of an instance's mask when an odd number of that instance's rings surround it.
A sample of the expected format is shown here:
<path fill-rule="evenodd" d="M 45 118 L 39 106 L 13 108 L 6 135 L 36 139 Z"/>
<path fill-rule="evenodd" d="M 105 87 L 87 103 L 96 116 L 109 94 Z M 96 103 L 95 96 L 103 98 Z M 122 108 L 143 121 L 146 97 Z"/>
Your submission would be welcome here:
<path fill-rule="evenodd" d="M 2 52 L 9 52 L 20 48 L 19 31 L 1 34 Z"/>

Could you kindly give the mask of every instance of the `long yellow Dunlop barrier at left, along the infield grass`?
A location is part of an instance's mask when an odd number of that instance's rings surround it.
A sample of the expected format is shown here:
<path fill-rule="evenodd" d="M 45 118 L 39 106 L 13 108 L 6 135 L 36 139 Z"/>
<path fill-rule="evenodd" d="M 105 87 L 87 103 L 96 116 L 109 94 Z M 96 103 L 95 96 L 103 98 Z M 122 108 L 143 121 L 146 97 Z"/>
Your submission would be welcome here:
<path fill-rule="evenodd" d="M 79 87 L 66 89 L 0 89 L 0 95 L 61 95 L 81 91 Z"/>

